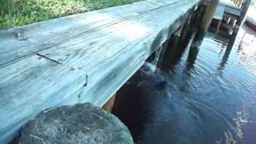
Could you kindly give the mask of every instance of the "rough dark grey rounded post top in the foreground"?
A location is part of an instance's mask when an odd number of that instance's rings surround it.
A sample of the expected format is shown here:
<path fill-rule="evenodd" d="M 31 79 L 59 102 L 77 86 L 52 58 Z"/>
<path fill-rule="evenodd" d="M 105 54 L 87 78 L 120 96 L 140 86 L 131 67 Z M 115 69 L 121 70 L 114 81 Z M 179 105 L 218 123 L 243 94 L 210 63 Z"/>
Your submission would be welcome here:
<path fill-rule="evenodd" d="M 22 129 L 19 144 L 133 143 L 118 118 L 89 103 L 46 110 Z"/>

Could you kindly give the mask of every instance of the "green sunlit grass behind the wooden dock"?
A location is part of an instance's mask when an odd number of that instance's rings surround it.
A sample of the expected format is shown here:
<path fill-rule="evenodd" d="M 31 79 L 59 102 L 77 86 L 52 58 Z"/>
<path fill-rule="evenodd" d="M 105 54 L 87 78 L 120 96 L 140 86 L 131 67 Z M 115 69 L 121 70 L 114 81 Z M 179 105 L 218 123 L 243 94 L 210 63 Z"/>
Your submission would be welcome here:
<path fill-rule="evenodd" d="M 141 0 L 0 0 L 0 29 Z"/>

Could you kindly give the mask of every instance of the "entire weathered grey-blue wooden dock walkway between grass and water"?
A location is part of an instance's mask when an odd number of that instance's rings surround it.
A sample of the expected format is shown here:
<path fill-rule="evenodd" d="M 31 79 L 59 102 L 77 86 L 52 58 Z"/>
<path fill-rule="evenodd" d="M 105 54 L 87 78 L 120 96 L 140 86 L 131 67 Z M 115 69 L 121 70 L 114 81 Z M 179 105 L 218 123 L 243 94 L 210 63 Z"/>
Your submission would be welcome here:
<path fill-rule="evenodd" d="M 107 102 L 200 0 L 147 0 L 0 30 L 0 143 L 41 110 Z"/>

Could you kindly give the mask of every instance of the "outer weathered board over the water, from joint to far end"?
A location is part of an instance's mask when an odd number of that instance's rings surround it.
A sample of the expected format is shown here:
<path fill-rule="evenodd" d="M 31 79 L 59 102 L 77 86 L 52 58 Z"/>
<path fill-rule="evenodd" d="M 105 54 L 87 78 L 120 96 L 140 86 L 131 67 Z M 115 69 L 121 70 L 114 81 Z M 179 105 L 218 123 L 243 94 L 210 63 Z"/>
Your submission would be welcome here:
<path fill-rule="evenodd" d="M 101 106 L 142 66 L 150 53 L 161 46 L 172 31 L 182 24 L 186 12 L 195 3 L 183 1 L 164 6 L 140 18 L 79 35 L 39 54 L 88 72 L 88 84 L 80 95 L 79 102 L 89 101 Z M 174 11 L 170 12 L 170 9 Z M 84 39 L 90 41 L 85 42 Z M 140 52 L 132 52 L 136 49 Z M 146 52 L 143 57 L 127 58 L 142 54 L 143 51 Z M 120 58 L 115 58 L 117 55 Z M 130 66 L 130 62 L 134 63 L 133 66 Z M 111 76 L 113 74 L 114 78 Z"/>

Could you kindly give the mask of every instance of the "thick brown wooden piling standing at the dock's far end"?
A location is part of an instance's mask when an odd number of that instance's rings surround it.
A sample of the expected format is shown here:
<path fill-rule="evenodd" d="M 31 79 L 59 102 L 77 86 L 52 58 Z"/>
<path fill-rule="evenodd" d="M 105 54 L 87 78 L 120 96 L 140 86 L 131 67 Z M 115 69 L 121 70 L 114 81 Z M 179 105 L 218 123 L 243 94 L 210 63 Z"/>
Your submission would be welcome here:
<path fill-rule="evenodd" d="M 202 29 L 202 31 L 206 32 L 208 30 L 210 23 L 214 17 L 214 13 L 217 9 L 218 2 L 219 0 L 210 0 L 210 3 L 206 7 L 206 12 L 202 17 L 202 22 L 200 25 L 200 29 Z"/>

